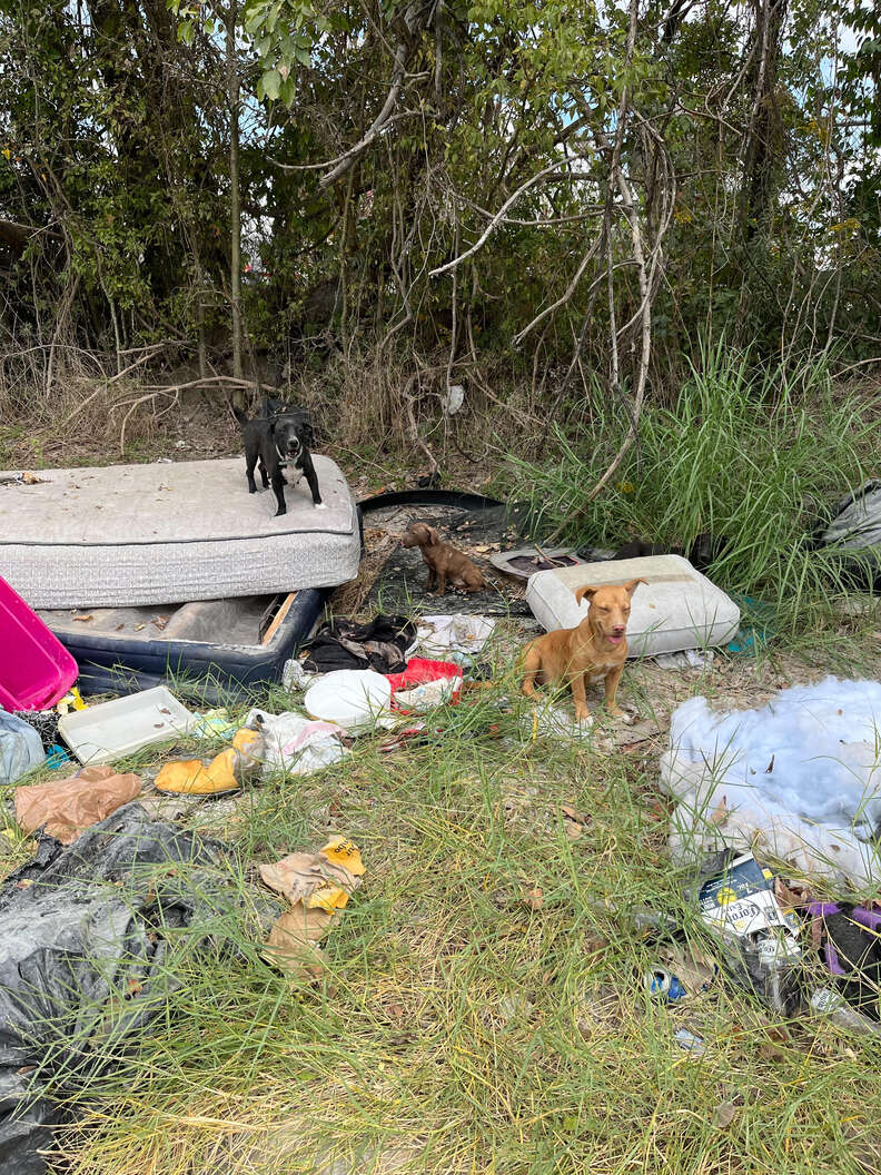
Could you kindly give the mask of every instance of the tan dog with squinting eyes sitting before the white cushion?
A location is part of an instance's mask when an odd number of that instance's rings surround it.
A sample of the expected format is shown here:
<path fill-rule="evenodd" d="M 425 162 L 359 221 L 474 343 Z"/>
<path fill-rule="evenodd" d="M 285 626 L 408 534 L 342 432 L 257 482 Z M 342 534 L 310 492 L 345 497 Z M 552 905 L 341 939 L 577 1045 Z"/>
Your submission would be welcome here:
<path fill-rule="evenodd" d="M 626 584 L 608 584 L 603 588 L 579 588 L 576 599 L 590 600 L 587 616 L 574 629 L 557 629 L 530 642 L 523 651 L 523 685 L 520 691 L 531 698 L 536 682 L 556 685 L 566 683 L 572 689 L 576 718 L 590 718 L 585 687 L 597 682 L 606 683 L 606 710 L 610 714 L 621 713 L 614 696 L 624 672 L 627 657 L 627 640 L 624 636 L 630 617 L 630 598 L 637 584 L 645 579 L 631 579 Z"/>

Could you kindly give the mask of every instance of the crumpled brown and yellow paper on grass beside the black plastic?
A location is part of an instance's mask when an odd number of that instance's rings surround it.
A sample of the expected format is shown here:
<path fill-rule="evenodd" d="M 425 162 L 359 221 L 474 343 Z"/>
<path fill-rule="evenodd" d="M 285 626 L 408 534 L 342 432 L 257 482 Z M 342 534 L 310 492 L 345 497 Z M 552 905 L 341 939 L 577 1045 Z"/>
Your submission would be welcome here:
<path fill-rule="evenodd" d="M 317 944 L 365 872 L 357 846 L 339 835 L 317 853 L 290 853 L 261 865 L 265 885 L 290 902 L 273 924 L 265 958 L 292 979 L 315 978 L 323 962 Z"/>

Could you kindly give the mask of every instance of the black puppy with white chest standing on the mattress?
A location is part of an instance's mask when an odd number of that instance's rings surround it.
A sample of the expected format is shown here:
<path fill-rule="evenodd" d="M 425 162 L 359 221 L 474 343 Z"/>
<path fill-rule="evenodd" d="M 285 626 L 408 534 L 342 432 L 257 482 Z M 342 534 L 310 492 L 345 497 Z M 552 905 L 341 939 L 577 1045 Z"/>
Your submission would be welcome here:
<path fill-rule="evenodd" d="M 277 409 L 281 409 L 277 410 Z M 300 470 L 300 476 L 294 482 L 297 484 L 301 477 L 305 476 L 309 489 L 312 494 L 312 505 L 322 506 L 321 491 L 318 489 L 318 477 L 312 464 L 312 455 L 309 452 L 309 444 L 314 432 L 309 416 L 297 408 L 278 401 L 268 400 L 264 405 L 264 415 L 249 421 L 244 412 L 237 408 L 233 409 L 235 418 L 242 429 L 244 441 L 244 462 L 248 477 L 248 492 L 256 494 L 257 486 L 254 482 L 254 469 L 260 462 L 260 476 L 263 489 L 269 489 L 270 482 L 275 492 L 278 509 L 275 515 L 287 513 L 288 508 L 284 502 L 284 477 L 282 470 L 287 465 L 294 465 Z"/>

